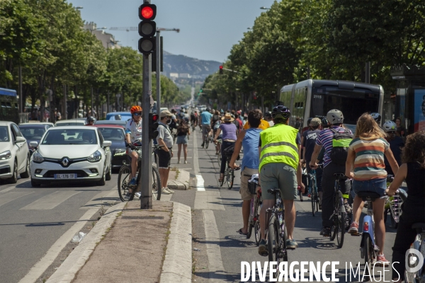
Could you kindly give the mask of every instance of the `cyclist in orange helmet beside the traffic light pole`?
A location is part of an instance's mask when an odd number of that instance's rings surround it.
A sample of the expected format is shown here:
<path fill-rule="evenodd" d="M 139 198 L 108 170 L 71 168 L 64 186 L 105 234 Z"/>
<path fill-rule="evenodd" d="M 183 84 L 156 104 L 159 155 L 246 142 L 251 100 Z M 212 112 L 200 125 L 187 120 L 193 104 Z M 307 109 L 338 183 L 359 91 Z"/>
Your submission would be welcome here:
<path fill-rule="evenodd" d="M 125 142 L 126 146 L 129 147 L 128 155 L 131 157 L 131 175 L 132 179 L 130 181 L 130 187 L 135 187 L 136 185 L 136 173 L 137 173 L 137 159 L 139 155 L 135 150 L 134 145 L 135 141 L 142 140 L 142 108 L 139 105 L 134 105 L 130 108 L 131 119 L 128 120 L 127 125 L 125 125 Z M 129 190 L 130 191 L 130 190 Z M 130 197 L 131 192 L 128 192 L 128 197 Z M 127 197 L 127 196 L 126 196 Z"/>

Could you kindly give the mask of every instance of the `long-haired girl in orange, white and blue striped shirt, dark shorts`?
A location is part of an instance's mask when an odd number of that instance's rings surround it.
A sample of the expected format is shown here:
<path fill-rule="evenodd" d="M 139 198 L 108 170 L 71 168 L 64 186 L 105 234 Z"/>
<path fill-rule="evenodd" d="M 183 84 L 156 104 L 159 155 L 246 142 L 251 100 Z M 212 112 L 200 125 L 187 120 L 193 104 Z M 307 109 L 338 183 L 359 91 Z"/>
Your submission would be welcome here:
<path fill-rule="evenodd" d="M 390 144 L 385 140 L 382 132 L 373 117 L 364 113 L 357 120 L 356 134 L 348 149 L 346 160 L 346 176 L 353 178 L 353 190 L 356 197 L 353 202 L 353 223 L 348 233 L 358 233 L 358 220 L 361 216 L 364 202 L 357 196 L 358 192 L 376 192 L 381 198 L 373 202 L 373 219 L 375 221 L 376 245 L 379 247 L 378 265 L 388 266 L 390 262 L 383 254 L 385 242 L 385 223 L 383 220 L 385 195 L 387 188 L 387 171 L 385 171 L 384 156 L 390 162 L 394 173 L 398 165 L 395 161 Z"/>

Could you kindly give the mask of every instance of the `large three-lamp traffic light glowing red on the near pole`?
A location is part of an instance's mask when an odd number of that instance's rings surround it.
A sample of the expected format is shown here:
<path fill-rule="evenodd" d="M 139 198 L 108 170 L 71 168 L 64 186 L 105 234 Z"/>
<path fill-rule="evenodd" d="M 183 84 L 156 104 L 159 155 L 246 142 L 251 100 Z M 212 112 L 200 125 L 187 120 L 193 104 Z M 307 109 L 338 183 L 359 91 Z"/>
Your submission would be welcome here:
<path fill-rule="evenodd" d="M 157 16 L 157 6 L 154 4 L 142 4 L 139 7 L 139 52 L 151 54 L 155 51 L 155 33 L 157 33 L 157 23 L 153 20 Z"/>

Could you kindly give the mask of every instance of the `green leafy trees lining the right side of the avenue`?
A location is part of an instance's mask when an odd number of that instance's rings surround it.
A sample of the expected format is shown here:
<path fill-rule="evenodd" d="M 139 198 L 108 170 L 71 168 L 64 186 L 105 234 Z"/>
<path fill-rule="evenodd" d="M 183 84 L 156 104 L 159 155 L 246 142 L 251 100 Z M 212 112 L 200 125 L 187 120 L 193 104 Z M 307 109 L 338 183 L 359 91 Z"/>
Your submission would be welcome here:
<path fill-rule="evenodd" d="M 365 62 L 370 83 L 392 93 L 390 68 L 424 65 L 424 42 L 423 0 L 275 1 L 232 47 L 224 67 L 237 72 L 208 77 L 204 96 L 235 103 L 256 91 L 269 105 L 282 86 L 308 78 L 364 81 Z"/>

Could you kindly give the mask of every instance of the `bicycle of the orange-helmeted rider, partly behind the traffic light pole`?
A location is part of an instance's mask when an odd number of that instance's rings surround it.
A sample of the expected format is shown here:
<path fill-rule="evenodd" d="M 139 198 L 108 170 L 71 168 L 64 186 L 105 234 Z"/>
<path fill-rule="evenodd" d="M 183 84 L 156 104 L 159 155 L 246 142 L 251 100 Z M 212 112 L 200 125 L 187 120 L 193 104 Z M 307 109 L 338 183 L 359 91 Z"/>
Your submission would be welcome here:
<path fill-rule="evenodd" d="M 154 145 L 154 149 L 161 149 L 162 146 Z M 139 154 L 139 158 L 137 160 L 137 168 L 142 168 L 142 147 L 136 146 L 137 154 Z M 131 173 L 131 165 L 124 164 L 121 166 L 120 171 L 118 173 L 118 195 L 120 195 L 120 200 L 125 202 L 125 195 L 130 192 L 129 201 L 133 200 L 135 197 L 135 192 L 140 183 L 141 175 L 137 170 L 136 173 L 136 186 L 130 187 L 130 180 L 132 179 Z M 159 177 L 158 169 L 152 165 L 152 197 L 154 200 L 161 200 L 161 178 Z"/>

